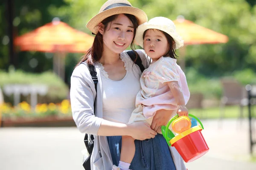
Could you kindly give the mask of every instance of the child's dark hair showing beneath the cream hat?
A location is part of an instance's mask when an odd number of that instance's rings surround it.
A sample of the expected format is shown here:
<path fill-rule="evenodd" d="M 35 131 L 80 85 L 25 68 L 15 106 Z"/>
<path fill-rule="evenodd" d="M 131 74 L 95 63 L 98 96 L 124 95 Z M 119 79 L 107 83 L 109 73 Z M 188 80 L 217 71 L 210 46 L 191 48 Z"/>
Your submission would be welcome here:
<path fill-rule="evenodd" d="M 146 31 L 144 31 L 143 33 L 143 40 L 145 38 L 145 34 L 146 32 L 148 31 L 149 29 L 147 29 Z M 152 29 L 154 30 L 154 29 Z M 158 31 L 161 31 L 159 29 L 157 29 Z M 171 57 L 171 58 L 174 58 L 174 59 L 177 59 L 177 54 L 176 54 L 176 44 L 175 44 L 175 40 L 172 38 L 172 36 L 170 36 L 169 34 L 167 34 L 166 32 L 164 31 L 161 31 L 166 39 L 167 39 L 167 42 L 168 42 L 168 50 L 167 50 L 167 53 L 164 55 L 164 57 Z"/>

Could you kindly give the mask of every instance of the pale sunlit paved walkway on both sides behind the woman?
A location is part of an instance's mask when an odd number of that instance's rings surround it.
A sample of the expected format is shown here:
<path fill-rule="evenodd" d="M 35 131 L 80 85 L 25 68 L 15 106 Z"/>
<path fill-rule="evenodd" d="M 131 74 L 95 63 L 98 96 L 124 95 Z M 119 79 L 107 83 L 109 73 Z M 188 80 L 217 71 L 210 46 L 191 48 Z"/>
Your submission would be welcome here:
<path fill-rule="evenodd" d="M 248 122 L 225 120 L 221 129 L 217 121 L 202 122 L 210 150 L 186 164 L 189 170 L 256 170 L 248 161 Z M 83 170 L 83 137 L 76 127 L 0 128 L 0 170 Z"/>

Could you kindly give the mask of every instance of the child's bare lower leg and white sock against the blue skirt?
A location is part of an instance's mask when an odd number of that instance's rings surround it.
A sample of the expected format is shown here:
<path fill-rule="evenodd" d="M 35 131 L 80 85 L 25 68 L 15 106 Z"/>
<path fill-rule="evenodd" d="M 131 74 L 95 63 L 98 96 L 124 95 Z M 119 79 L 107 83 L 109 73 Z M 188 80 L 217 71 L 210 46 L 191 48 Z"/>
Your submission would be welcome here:
<path fill-rule="evenodd" d="M 131 161 L 135 154 L 135 144 L 134 139 L 131 136 L 122 136 L 122 149 L 121 149 L 121 159 L 119 166 L 121 169 L 129 169 Z M 124 164 L 126 167 L 122 167 L 122 162 L 128 163 Z"/>

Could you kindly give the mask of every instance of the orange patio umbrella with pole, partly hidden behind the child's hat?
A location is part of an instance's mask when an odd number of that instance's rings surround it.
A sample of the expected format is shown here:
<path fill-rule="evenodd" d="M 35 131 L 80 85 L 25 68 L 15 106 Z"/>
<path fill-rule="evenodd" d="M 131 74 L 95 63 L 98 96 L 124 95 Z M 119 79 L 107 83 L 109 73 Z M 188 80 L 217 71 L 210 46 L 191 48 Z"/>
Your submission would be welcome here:
<path fill-rule="evenodd" d="M 224 34 L 212 31 L 208 28 L 199 26 L 192 21 L 178 18 L 174 21 L 178 34 L 184 40 L 184 46 L 181 48 L 181 56 L 185 55 L 186 45 L 192 44 L 217 44 L 228 42 L 228 37 Z M 181 68 L 185 68 L 185 60 L 181 59 Z"/>

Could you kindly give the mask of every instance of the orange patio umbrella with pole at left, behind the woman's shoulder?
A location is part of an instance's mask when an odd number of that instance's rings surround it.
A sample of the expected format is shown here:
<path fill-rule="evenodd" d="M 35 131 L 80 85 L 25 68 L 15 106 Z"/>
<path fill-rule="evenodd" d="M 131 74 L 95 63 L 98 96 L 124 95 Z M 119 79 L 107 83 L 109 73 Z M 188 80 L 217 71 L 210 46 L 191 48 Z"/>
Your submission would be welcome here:
<path fill-rule="evenodd" d="M 64 78 L 65 53 L 84 53 L 93 44 L 94 37 L 78 31 L 66 23 L 53 20 L 34 31 L 15 38 L 15 45 L 21 51 L 51 52 L 57 55 L 53 58 L 53 70 Z"/>

